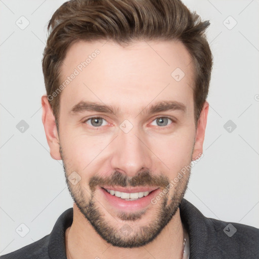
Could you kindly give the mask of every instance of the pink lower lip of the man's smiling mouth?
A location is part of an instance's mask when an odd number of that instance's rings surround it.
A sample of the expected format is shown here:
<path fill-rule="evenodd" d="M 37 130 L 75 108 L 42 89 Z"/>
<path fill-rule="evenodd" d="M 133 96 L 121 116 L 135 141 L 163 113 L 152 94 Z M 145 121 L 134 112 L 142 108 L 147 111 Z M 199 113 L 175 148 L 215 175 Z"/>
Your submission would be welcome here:
<path fill-rule="evenodd" d="M 151 203 L 151 199 L 153 199 L 159 193 L 159 188 L 150 192 L 147 196 L 143 196 L 137 200 L 124 200 L 115 195 L 109 194 L 103 188 L 100 188 L 101 192 L 103 193 L 105 199 L 111 204 L 113 207 L 122 210 L 139 210 L 146 208 Z"/>

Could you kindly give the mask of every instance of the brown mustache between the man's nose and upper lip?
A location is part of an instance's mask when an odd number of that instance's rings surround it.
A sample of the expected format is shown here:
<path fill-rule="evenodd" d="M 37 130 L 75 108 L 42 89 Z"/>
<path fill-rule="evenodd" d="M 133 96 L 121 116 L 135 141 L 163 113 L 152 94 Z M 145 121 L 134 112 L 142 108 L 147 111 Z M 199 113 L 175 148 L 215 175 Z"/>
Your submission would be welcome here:
<path fill-rule="evenodd" d="M 121 187 L 137 187 L 137 186 L 157 186 L 166 188 L 169 185 L 169 178 L 160 175 L 151 175 L 149 171 L 139 172 L 136 176 L 128 177 L 121 172 L 115 171 L 109 177 L 93 176 L 90 178 L 90 190 L 94 192 L 97 186 L 121 186 Z"/>

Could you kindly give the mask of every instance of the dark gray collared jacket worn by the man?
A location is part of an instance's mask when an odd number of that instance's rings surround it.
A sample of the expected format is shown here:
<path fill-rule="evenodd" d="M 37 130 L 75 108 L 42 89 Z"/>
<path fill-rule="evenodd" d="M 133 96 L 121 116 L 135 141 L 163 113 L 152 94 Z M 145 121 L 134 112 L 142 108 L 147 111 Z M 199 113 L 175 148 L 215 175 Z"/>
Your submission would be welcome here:
<path fill-rule="evenodd" d="M 206 218 L 186 199 L 180 204 L 180 214 L 189 234 L 190 259 L 259 259 L 259 229 Z M 64 235 L 72 221 L 73 208 L 69 208 L 49 235 L 0 258 L 66 259 Z"/>

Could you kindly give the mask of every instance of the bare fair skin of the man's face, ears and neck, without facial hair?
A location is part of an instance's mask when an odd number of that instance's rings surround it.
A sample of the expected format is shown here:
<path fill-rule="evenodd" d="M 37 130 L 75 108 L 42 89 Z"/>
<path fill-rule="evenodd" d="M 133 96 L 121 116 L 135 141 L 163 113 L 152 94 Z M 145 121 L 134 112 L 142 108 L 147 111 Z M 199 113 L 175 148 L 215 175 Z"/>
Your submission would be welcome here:
<path fill-rule="evenodd" d="M 76 185 L 70 184 L 69 187 L 78 199 L 78 190 L 82 190 L 81 198 L 85 203 L 91 198 L 89 181 L 93 176 L 106 178 L 118 171 L 131 179 L 145 168 L 152 176 L 163 175 L 169 180 L 177 177 L 184 166 L 202 153 L 208 113 L 208 103 L 205 102 L 196 128 L 193 63 L 181 42 L 135 41 L 123 48 L 112 41 L 78 41 L 67 52 L 61 67 L 61 82 L 96 49 L 100 54 L 61 93 L 59 134 L 47 96 L 41 98 L 42 122 L 50 154 L 53 159 L 63 158 L 66 178 L 72 171 L 81 177 Z M 177 67 L 185 73 L 180 81 L 171 76 Z M 96 111 L 71 114 L 72 107 L 80 101 L 117 106 L 121 112 L 117 115 Z M 186 109 L 140 113 L 143 108 L 148 109 L 160 101 L 177 101 Z M 104 118 L 103 125 L 97 129 L 91 125 L 91 120 L 85 122 L 91 116 Z M 159 117 L 171 120 L 161 126 L 156 120 Z M 133 125 L 128 133 L 119 127 L 125 119 Z M 169 189 L 166 205 L 170 203 L 170 197 L 180 202 L 189 176 L 190 172 Z M 133 231 L 132 236 L 138 233 L 139 227 L 156 219 L 163 202 L 161 199 L 156 204 L 148 204 L 137 221 L 123 221 L 118 217 L 121 211 L 105 200 L 100 186 L 93 194 L 104 221 L 116 231 L 126 223 Z M 122 212 L 138 211 L 130 208 L 127 211 L 122 209 Z M 182 258 L 184 234 L 178 206 L 172 219 L 154 240 L 134 248 L 121 248 L 106 242 L 76 203 L 73 213 L 72 226 L 65 233 L 68 259 L 97 256 L 103 259 L 114 258 L 114 255 L 118 258 Z"/>

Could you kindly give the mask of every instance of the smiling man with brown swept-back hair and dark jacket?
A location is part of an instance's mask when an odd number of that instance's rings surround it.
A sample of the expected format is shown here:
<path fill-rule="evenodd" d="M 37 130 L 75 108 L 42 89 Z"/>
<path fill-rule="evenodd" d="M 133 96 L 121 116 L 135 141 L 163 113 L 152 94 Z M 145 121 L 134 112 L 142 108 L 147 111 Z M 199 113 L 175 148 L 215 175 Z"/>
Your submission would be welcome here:
<path fill-rule="evenodd" d="M 184 194 L 202 156 L 209 22 L 177 0 L 70 1 L 42 60 L 42 122 L 74 200 L 5 258 L 257 258 L 259 230 Z"/>

